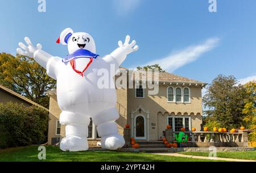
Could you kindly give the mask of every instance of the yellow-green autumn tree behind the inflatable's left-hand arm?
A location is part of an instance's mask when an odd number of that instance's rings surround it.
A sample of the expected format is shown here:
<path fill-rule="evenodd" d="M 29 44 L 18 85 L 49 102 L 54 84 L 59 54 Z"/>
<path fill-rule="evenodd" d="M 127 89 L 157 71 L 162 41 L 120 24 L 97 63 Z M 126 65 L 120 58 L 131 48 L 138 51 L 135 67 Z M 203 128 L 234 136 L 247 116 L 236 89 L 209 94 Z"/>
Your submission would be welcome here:
<path fill-rule="evenodd" d="M 0 83 L 46 108 L 46 92 L 56 88 L 56 81 L 33 58 L 7 53 L 0 53 Z"/>

